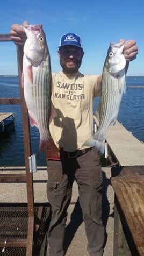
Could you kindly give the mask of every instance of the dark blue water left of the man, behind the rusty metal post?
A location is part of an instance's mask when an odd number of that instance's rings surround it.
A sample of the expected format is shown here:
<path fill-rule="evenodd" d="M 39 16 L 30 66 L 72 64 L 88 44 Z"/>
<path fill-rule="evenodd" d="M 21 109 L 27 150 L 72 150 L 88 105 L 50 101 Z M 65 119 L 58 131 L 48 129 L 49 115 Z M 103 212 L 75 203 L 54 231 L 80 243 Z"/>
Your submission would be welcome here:
<path fill-rule="evenodd" d="M 19 97 L 18 77 L 0 77 L 0 97 Z M 23 127 L 20 105 L 0 105 L 0 112 L 15 113 L 15 130 L 4 135 L 0 140 L 0 165 L 24 166 Z M 39 153 L 39 131 L 30 128 L 32 153 L 37 155 L 37 165 L 45 166 L 45 153 Z"/>

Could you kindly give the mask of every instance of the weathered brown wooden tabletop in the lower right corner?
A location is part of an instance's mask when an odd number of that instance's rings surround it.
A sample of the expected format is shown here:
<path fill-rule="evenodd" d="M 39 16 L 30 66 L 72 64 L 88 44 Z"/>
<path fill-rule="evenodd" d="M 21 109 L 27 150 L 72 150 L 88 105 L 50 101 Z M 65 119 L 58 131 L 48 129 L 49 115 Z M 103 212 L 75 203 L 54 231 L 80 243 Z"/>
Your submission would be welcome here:
<path fill-rule="evenodd" d="M 111 184 L 131 231 L 136 249 L 142 256 L 144 254 L 144 176 L 112 177 Z"/>

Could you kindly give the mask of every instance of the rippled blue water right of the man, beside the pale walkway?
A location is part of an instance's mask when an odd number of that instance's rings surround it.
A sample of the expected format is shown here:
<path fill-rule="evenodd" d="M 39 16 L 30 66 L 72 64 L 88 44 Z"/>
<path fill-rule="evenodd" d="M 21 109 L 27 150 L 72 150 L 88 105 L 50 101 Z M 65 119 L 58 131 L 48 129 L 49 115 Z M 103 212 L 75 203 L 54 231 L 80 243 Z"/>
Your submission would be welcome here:
<path fill-rule="evenodd" d="M 98 101 L 95 99 L 93 110 L 96 110 Z M 126 77 L 126 94 L 121 100 L 118 121 L 144 142 L 144 76 Z"/>

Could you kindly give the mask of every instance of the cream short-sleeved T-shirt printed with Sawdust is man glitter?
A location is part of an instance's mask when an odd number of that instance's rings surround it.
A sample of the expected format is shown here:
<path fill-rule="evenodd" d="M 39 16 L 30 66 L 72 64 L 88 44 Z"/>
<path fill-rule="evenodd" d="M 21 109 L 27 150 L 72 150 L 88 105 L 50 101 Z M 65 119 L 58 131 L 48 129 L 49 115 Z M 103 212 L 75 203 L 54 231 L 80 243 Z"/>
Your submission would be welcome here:
<path fill-rule="evenodd" d="M 52 103 L 56 109 L 49 129 L 54 143 L 65 151 L 75 151 L 93 133 L 93 97 L 99 95 L 99 75 L 52 73 Z"/>

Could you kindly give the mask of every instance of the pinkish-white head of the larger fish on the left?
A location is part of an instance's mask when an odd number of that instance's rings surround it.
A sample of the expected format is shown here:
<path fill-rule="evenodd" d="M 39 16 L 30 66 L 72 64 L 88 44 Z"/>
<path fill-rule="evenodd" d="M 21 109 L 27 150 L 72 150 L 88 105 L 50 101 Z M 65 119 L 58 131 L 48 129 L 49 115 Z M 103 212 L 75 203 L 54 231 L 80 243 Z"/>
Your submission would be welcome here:
<path fill-rule="evenodd" d="M 42 25 L 26 25 L 24 30 L 27 36 L 24 45 L 24 54 L 28 61 L 35 67 L 47 56 L 47 43 L 45 33 L 42 30 Z"/>

